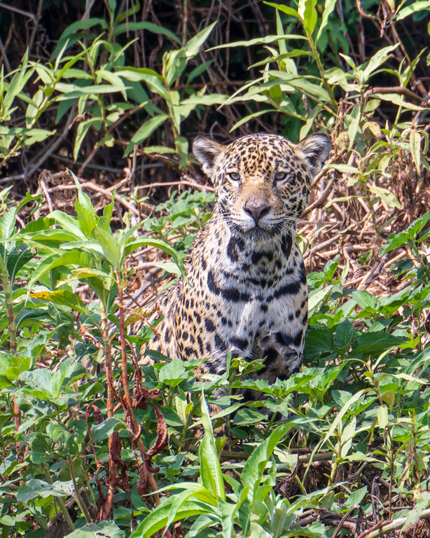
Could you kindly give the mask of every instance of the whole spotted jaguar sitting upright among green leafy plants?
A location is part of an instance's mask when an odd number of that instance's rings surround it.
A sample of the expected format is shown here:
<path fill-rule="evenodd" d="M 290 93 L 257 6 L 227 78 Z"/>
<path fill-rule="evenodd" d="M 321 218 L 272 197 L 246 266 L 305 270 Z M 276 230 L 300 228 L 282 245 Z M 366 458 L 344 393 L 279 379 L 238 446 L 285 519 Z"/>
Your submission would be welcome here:
<path fill-rule="evenodd" d="M 269 383 L 298 371 L 307 284 L 295 223 L 329 150 L 322 134 L 299 144 L 265 133 L 226 145 L 195 139 L 216 205 L 186 256 L 188 282 L 180 278 L 158 300 L 164 319 L 152 349 L 207 359 L 203 371 L 217 374 L 226 371 L 229 352 L 267 357 L 257 375 Z"/>

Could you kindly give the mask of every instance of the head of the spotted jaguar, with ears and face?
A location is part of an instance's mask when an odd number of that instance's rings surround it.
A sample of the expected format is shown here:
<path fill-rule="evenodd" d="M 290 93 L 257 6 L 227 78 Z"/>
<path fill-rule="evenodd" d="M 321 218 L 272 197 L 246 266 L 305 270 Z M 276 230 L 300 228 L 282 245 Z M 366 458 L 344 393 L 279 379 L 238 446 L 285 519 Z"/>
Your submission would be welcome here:
<path fill-rule="evenodd" d="M 263 133 L 226 145 L 197 137 L 193 151 L 214 184 L 219 213 L 230 227 L 263 237 L 291 228 L 330 148 L 328 136 L 321 133 L 299 144 Z"/>

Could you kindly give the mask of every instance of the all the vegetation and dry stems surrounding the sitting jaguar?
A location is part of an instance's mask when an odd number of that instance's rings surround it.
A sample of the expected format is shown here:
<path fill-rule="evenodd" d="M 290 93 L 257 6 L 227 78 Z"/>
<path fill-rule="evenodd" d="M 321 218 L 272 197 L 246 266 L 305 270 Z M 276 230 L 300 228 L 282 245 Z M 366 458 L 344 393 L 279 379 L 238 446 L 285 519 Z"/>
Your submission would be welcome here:
<path fill-rule="evenodd" d="M 430 536 L 429 13 L 0 4 L 1 538 Z M 214 201 L 191 139 L 261 130 L 333 142 L 303 371 L 139 368 Z"/>

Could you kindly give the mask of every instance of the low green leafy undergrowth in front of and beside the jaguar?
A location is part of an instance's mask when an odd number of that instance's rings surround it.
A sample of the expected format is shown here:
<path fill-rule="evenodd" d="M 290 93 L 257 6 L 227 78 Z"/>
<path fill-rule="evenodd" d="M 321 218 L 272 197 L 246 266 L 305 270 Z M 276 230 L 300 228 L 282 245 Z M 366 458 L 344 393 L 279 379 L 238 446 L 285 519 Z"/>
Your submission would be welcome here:
<path fill-rule="evenodd" d="M 22 203 L 34 212 L 40 202 Z M 167 202 L 170 233 L 181 223 L 201 226 L 200 202 Z M 421 322 L 430 213 L 380 252 L 408 244 L 416 254 L 394 269 L 405 284 L 400 293 L 345 289 L 338 259 L 308 275 L 303 371 L 268 385 L 242 380 L 261 361 L 231 357 L 225 374 L 196 378 L 202 361 L 148 351 L 155 362 L 140 370 L 139 348 L 157 329 L 146 324 L 126 336 L 127 324 L 145 315 L 127 317 L 127 256 L 150 244 L 181 274 L 181 249 L 136 239 L 129 219 L 112 233 L 112 208 L 97 216 L 79 189 L 76 217 L 55 210 L 18 230 L 18 206 L 0 219 L 4 535 L 32 538 L 67 525 L 61 532 L 76 536 L 165 529 L 188 537 L 324 537 L 337 525 L 345 534 L 379 518 L 415 523 L 430 503 L 430 354 Z M 157 219 L 146 227 L 166 233 Z M 78 282 L 99 301 L 84 303 L 74 293 Z M 117 326 L 111 333 L 109 322 Z M 244 403 L 238 387 L 265 399 Z M 216 399 L 220 388 L 227 396 Z M 209 417 L 215 402 L 221 411 Z"/>

